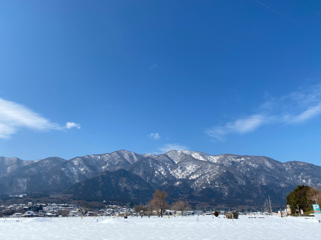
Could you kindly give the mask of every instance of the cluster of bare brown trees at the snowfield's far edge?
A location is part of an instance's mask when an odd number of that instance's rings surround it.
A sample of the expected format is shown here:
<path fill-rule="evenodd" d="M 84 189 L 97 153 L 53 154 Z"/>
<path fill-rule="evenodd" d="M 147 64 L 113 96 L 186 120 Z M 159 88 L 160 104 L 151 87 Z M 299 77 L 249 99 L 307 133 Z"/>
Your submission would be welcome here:
<path fill-rule="evenodd" d="M 153 211 L 156 211 L 157 217 L 163 217 L 166 209 L 172 208 L 173 210 L 180 211 L 183 217 L 183 212 L 188 206 L 187 203 L 182 200 L 178 200 L 170 206 L 169 203 L 166 202 L 167 197 L 168 195 L 164 190 L 160 191 L 156 189 L 153 193 L 153 199 L 147 205 L 136 205 L 134 208 L 135 212 L 137 212 L 141 218 L 143 218 L 144 215 L 150 218 Z"/>

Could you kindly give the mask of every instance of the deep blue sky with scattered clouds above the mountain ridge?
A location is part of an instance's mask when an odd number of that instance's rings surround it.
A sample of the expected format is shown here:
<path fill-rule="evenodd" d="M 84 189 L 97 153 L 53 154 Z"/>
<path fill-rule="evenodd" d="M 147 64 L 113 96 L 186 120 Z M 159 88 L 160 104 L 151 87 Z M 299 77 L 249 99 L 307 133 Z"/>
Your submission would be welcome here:
<path fill-rule="evenodd" d="M 320 16 L 317 0 L 1 1 L 0 155 L 321 165 Z"/>

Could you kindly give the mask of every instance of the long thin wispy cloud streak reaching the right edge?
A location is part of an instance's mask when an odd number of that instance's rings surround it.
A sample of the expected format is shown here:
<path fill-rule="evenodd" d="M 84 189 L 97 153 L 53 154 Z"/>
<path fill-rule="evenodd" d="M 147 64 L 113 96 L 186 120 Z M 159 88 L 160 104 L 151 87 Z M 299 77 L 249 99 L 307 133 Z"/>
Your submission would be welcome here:
<path fill-rule="evenodd" d="M 215 126 L 206 131 L 208 135 L 224 140 L 229 133 L 245 134 L 268 124 L 304 124 L 321 114 L 321 84 L 298 92 L 267 100 L 251 115 Z"/>

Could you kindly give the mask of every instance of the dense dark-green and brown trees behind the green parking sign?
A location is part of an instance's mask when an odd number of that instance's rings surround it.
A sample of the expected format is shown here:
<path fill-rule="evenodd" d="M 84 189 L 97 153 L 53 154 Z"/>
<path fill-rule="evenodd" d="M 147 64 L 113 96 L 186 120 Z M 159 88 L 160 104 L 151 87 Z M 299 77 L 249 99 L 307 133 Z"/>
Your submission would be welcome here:
<path fill-rule="evenodd" d="M 312 204 L 320 204 L 321 189 L 318 187 L 309 187 L 298 185 L 287 197 L 286 204 L 290 205 L 291 212 L 303 210 L 305 212 L 312 210 Z"/>

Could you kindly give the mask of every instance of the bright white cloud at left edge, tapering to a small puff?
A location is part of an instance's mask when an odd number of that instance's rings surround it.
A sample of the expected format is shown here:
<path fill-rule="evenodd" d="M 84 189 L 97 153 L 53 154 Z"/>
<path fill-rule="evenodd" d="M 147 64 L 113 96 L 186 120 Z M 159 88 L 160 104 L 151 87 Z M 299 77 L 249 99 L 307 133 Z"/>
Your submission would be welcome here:
<path fill-rule="evenodd" d="M 65 128 L 80 128 L 79 124 L 67 122 L 65 127 L 51 122 L 26 106 L 6 101 L 0 98 L 0 138 L 8 138 L 20 128 L 30 128 L 39 131 L 63 130 Z"/>

